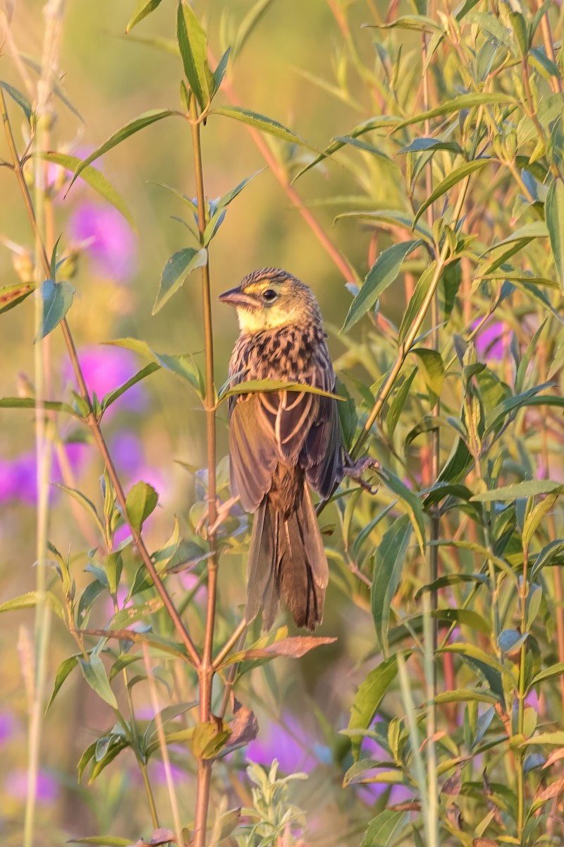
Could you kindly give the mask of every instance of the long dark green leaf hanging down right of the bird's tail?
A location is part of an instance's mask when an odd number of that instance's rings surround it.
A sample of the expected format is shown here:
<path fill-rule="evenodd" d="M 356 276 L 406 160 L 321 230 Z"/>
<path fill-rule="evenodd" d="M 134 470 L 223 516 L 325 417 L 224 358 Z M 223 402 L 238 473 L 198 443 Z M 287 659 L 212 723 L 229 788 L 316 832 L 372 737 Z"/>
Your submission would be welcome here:
<path fill-rule="evenodd" d="M 372 582 L 372 617 L 382 652 L 388 654 L 388 628 L 393 596 L 402 578 L 402 567 L 411 538 L 411 521 L 402 515 L 386 530 L 375 552 Z"/>

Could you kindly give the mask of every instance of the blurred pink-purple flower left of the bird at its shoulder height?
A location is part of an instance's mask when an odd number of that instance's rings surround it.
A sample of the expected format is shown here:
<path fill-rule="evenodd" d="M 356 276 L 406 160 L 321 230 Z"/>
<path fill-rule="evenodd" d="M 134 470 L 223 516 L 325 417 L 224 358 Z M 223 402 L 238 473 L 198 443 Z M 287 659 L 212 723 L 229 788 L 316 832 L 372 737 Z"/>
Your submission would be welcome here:
<path fill-rule="evenodd" d="M 134 352 L 122 347 L 91 346 L 79 351 L 79 362 L 90 394 L 96 391 L 99 400 L 128 379 L 139 370 L 137 357 Z M 72 367 L 66 363 L 63 370 L 64 379 L 75 385 Z M 76 390 L 76 389 L 75 389 Z M 140 412 L 145 408 L 147 394 L 145 386 L 137 383 L 126 391 L 117 401 L 124 409 Z M 111 414 L 112 407 L 106 413 Z"/>

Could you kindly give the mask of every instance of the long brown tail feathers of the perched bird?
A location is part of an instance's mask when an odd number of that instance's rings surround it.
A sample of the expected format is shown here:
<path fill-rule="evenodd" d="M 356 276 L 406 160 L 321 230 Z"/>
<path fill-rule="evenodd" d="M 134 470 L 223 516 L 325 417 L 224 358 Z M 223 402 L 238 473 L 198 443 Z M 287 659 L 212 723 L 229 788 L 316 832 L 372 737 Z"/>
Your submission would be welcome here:
<path fill-rule="evenodd" d="M 247 620 L 262 606 L 263 627 L 270 629 L 282 596 L 296 626 L 315 629 L 323 619 L 328 578 L 327 556 L 305 481 L 287 517 L 271 494 L 265 495 L 255 512 L 250 540 Z"/>

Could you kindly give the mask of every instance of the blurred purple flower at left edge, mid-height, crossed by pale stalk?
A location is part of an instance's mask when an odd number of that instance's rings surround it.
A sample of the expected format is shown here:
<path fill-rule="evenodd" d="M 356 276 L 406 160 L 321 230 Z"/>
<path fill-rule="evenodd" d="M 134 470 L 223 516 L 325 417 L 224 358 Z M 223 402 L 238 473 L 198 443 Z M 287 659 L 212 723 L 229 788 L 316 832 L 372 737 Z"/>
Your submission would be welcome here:
<path fill-rule="evenodd" d="M 85 461 L 88 445 L 76 443 L 65 445 L 70 467 L 76 471 Z M 50 482 L 63 482 L 57 453 L 53 453 L 52 473 Z M 52 490 L 50 495 L 52 495 Z M 37 461 L 36 452 L 21 453 L 14 459 L 0 459 L 0 504 L 20 501 L 34 505 L 37 501 Z"/>

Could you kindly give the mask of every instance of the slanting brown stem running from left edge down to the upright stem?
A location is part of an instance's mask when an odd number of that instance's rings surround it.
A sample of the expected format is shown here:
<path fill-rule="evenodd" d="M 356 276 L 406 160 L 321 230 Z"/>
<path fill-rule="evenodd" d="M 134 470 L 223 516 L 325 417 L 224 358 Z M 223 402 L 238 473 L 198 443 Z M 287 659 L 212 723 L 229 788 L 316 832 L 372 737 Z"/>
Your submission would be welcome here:
<path fill-rule="evenodd" d="M 14 172 L 15 172 L 16 177 L 17 177 L 18 182 L 19 182 L 19 187 L 20 187 L 20 190 L 21 190 L 21 193 L 22 193 L 22 197 L 24 198 L 25 208 L 26 208 L 26 211 L 28 213 L 28 217 L 30 219 L 31 228 L 34 232 L 34 235 L 36 235 L 39 258 L 41 260 L 41 264 L 43 266 L 44 273 L 47 274 L 47 277 L 48 277 L 51 274 L 50 263 L 49 263 L 49 259 L 47 257 L 47 251 L 45 249 L 45 245 L 44 245 L 44 243 L 41 239 L 41 231 L 39 230 L 39 227 L 38 227 L 38 224 L 37 224 L 35 209 L 34 209 L 31 197 L 30 197 L 30 192 L 29 192 L 27 184 L 25 182 L 24 174 L 23 174 L 23 171 L 22 171 L 22 166 L 21 166 L 21 163 L 20 163 L 19 157 L 18 157 L 18 152 L 17 152 L 16 147 L 15 147 L 14 135 L 12 133 L 12 127 L 10 125 L 9 118 L 8 118 L 8 112 L 7 112 L 7 109 L 6 109 L 6 101 L 4 99 L 3 91 L 1 89 L 0 89 L 0 112 L 2 113 L 4 129 L 6 130 L 6 138 L 8 140 L 8 147 L 9 147 L 10 153 L 12 155 L 12 161 L 14 163 Z M 69 356 L 71 364 L 73 366 L 74 375 L 75 375 L 76 380 L 79 384 L 80 396 L 85 401 L 85 403 L 86 403 L 86 405 L 89 409 L 88 415 L 85 418 L 85 424 L 90 428 L 92 435 L 94 437 L 94 440 L 96 442 L 96 446 L 97 446 L 98 450 L 101 452 L 101 456 L 104 459 L 104 462 L 105 462 L 106 467 L 107 467 L 107 473 L 109 474 L 109 477 L 112 480 L 113 487 L 116 491 L 116 497 L 118 499 L 118 504 L 119 504 L 119 506 L 122 510 L 123 518 L 125 518 L 125 520 L 128 521 L 128 523 L 129 523 L 129 518 L 128 518 L 128 514 L 127 514 L 127 507 L 126 507 L 126 497 L 125 497 L 125 493 L 123 491 L 123 486 L 122 486 L 122 484 L 121 484 L 121 482 L 118 478 L 118 473 L 116 471 L 112 457 L 111 457 L 111 455 L 110 455 L 110 453 L 107 449 L 106 441 L 104 440 L 104 436 L 102 435 L 102 432 L 101 432 L 100 422 L 97 420 L 96 415 L 94 414 L 94 412 L 92 410 L 92 402 L 90 400 L 90 393 L 89 393 L 88 388 L 86 386 L 85 378 L 84 378 L 84 375 L 82 373 L 82 369 L 80 368 L 79 357 L 78 357 L 77 352 L 76 352 L 76 347 L 74 346 L 74 339 L 73 339 L 73 336 L 71 334 L 71 331 L 70 331 L 70 328 L 68 326 L 68 322 L 67 322 L 66 318 L 63 318 L 63 320 L 61 321 L 61 330 L 63 332 L 63 338 L 64 338 L 65 344 L 67 346 L 68 356 Z M 183 641 L 183 645 L 186 647 L 186 650 L 187 650 L 188 655 L 189 655 L 189 660 L 194 667 L 198 667 L 198 665 L 200 664 L 200 655 L 198 653 L 198 650 L 196 650 L 194 642 L 190 638 L 188 629 L 183 624 L 181 617 L 178 615 L 178 611 L 177 611 L 176 607 L 174 606 L 174 603 L 172 602 L 172 599 L 171 599 L 170 595 L 168 594 L 167 589 L 165 588 L 164 584 L 162 583 L 162 579 L 160 578 L 159 574 L 156 572 L 156 567 L 154 566 L 153 562 L 151 561 L 151 556 L 150 556 L 149 551 L 147 550 L 147 548 L 145 546 L 145 541 L 143 540 L 142 534 L 140 533 L 140 530 L 135 529 L 133 526 L 131 526 L 130 523 L 129 523 L 129 529 L 131 530 L 131 534 L 133 535 L 134 542 L 135 542 L 135 545 L 137 546 L 137 549 L 140 553 L 141 559 L 142 559 L 145 567 L 147 568 L 147 571 L 150 573 L 151 579 L 153 580 L 153 583 L 155 584 L 155 588 L 156 588 L 158 594 L 161 596 L 161 599 L 164 603 L 164 606 L 166 607 L 167 612 L 172 619 L 172 622 L 174 623 L 175 627 L 178 630 L 178 634 Z"/>

